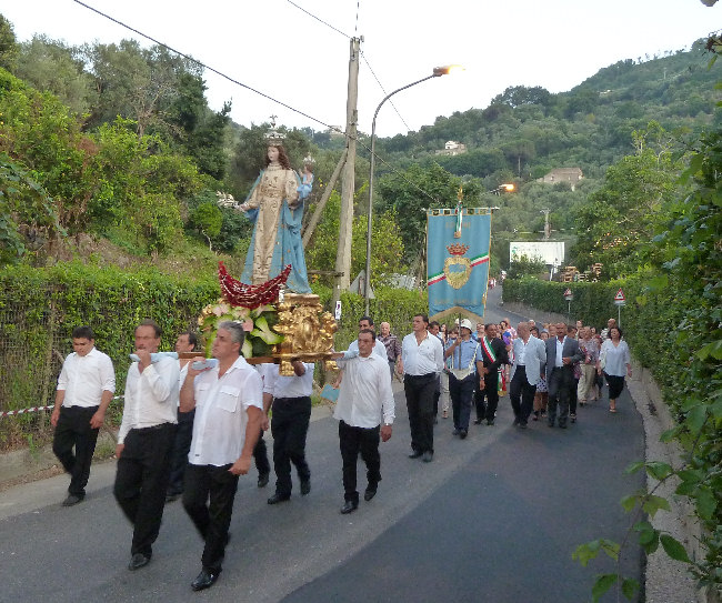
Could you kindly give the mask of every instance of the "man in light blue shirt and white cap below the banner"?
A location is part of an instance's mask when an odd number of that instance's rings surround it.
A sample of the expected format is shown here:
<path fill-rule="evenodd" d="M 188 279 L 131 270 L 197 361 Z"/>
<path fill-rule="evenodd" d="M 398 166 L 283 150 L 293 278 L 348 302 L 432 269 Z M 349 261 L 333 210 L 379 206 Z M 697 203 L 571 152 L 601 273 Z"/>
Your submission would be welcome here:
<path fill-rule="evenodd" d="M 471 321 L 463 319 L 460 336 L 447 345 L 444 359 L 451 359 L 449 374 L 449 395 L 454 420 L 454 435 L 462 440 L 469 434 L 469 419 L 475 386 L 475 362 L 479 344 L 471 339 Z"/>

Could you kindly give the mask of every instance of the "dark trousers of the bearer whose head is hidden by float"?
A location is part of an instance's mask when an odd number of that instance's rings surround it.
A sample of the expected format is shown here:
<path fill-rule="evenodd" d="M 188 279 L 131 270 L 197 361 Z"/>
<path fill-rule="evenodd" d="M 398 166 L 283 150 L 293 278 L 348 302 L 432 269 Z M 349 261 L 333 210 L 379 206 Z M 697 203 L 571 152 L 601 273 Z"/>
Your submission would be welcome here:
<path fill-rule="evenodd" d="M 271 433 L 273 434 L 273 471 L 275 492 L 281 496 L 291 494 L 291 463 L 295 465 L 299 480 L 311 479 L 305 462 L 305 435 L 311 420 L 311 399 L 277 398 L 273 400 Z"/>

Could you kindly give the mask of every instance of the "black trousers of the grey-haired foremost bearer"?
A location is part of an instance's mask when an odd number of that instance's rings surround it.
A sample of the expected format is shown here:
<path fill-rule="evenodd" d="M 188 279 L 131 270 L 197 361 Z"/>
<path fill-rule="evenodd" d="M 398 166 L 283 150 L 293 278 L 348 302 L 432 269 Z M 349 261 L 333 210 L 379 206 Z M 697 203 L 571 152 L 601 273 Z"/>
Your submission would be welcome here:
<path fill-rule="evenodd" d="M 231 525 L 238 475 L 223 466 L 189 464 L 185 470 L 183 507 L 203 539 L 203 569 L 220 572 Z"/>

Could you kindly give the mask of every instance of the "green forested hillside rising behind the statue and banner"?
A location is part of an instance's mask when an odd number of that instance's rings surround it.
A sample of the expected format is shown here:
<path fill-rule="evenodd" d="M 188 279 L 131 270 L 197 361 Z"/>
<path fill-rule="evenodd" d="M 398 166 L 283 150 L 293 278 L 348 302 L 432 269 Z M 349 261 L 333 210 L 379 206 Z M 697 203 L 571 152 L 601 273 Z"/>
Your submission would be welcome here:
<path fill-rule="evenodd" d="M 422 210 L 455 203 L 460 187 L 465 203 L 500 208 L 494 270 L 507 265 L 510 240 L 541 238 L 542 210 L 552 237 L 574 243 L 580 224 L 593 221 L 589 195 L 603 185 L 609 167 L 635 152 L 658 159 L 682 153 L 686 140 L 722 119 L 713 112 L 708 60 L 700 41 L 690 51 L 621 61 L 560 94 L 509 88 L 487 108 L 379 140 L 375 278 L 419 270 Z M 230 102 L 211 110 L 197 63 L 130 40 L 70 47 L 36 37 L 18 43 L 12 24 L 0 19 L 0 262 L 43 265 L 81 257 L 121 265 L 151 261 L 172 271 L 190 264 L 193 273 L 198 267 L 212 273 L 221 254 L 240 265 L 249 224 L 219 208 L 215 191 L 245 195 L 262 164 L 269 124 L 231 122 Z M 317 160 L 313 210 L 343 140 L 280 130 L 294 167 L 309 153 Z M 467 152 L 437 154 L 449 140 Z M 354 273 L 365 261 L 368 147 L 362 135 Z M 537 182 L 561 167 L 581 168 L 584 178 L 574 190 Z M 503 182 L 514 182 L 518 192 L 487 192 Z M 331 268 L 338 214 L 334 193 L 307 250 L 309 268 Z"/>

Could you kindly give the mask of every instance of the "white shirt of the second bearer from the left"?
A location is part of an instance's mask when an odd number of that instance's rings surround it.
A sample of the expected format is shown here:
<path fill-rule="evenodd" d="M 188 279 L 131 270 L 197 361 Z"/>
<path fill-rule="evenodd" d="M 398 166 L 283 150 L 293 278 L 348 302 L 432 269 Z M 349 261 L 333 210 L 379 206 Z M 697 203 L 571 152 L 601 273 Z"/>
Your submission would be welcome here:
<path fill-rule="evenodd" d="M 143 429 L 162 423 L 178 422 L 178 392 L 180 370 L 178 360 L 164 356 L 143 369 L 138 362 L 128 369 L 123 420 L 118 432 L 118 443 L 126 442 L 131 429 Z"/>

